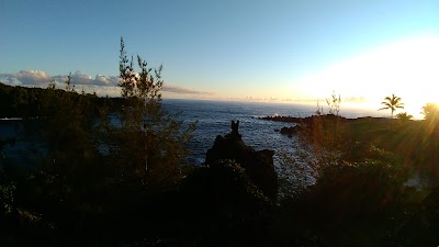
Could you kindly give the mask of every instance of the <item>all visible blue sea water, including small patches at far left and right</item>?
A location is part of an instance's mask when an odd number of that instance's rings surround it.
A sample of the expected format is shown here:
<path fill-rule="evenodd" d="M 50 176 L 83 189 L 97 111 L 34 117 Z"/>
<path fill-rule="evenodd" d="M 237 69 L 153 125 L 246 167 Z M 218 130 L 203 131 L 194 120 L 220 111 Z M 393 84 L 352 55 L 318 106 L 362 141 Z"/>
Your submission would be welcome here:
<path fill-rule="evenodd" d="M 164 100 L 164 106 L 171 113 L 181 112 L 178 116 L 185 123 L 195 122 L 194 138 L 190 143 L 192 154 L 189 158 L 194 165 L 202 165 L 205 154 L 212 147 L 217 135 L 230 132 L 230 121 L 239 120 L 239 133 L 243 141 L 256 150 L 272 149 L 277 154 L 281 150 L 291 150 L 294 138 L 289 138 L 274 132 L 275 128 L 291 126 L 289 123 L 263 121 L 259 117 L 267 115 L 308 116 L 316 110 L 316 105 L 255 103 L 255 102 L 225 102 L 201 100 Z M 376 115 L 374 111 L 361 109 L 341 109 L 341 115 L 358 117 Z M 0 139 L 12 137 L 21 130 L 20 120 L 0 120 Z M 7 147 L 3 153 L 9 157 L 25 162 L 29 158 L 29 145 L 18 142 Z M 1 162 L 1 159 L 0 159 Z"/>

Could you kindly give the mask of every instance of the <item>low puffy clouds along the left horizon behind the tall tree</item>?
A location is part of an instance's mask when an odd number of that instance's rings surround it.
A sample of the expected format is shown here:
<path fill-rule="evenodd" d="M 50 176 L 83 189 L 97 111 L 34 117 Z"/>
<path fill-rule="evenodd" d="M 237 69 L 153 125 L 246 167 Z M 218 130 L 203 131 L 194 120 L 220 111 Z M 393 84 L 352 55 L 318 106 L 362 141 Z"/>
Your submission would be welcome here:
<path fill-rule="evenodd" d="M 43 70 L 20 70 L 14 74 L 0 74 L 0 81 L 4 81 L 12 86 L 24 86 L 24 87 L 47 87 L 48 83 L 55 81 L 60 85 L 67 80 L 67 75 L 50 76 Z M 117 76 L 103 76 L 95 75 L 94 79 L 77 70 L 71 74 L 71 83 L 77 88 L 82 88 L 87 92 L 97 92 L 100 96 L 120 96 L 119 77 Z M 195 94 L 195 96 L 213 96 L 214 92 L 200 91 L 190 88 L 164 85 L 164 92 L 176 93 L 176 94 Z"/>

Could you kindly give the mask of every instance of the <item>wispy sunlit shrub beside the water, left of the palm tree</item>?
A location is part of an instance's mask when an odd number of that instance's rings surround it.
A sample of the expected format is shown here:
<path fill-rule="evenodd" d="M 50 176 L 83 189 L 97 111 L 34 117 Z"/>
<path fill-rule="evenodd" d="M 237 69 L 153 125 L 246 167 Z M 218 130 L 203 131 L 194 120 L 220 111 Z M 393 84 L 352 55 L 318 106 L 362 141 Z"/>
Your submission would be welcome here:
<path fill-rule="evenodd" d="M 326 102 L 329 108 L 328 114 L 317 101 L 315 114 L 301 120 L 294 155 L 281 155 L 281 169 L 300 181 L 293 184 L 289 181 L 291 178 L 281 178 L 285 179 L 283 184 L 294 187 L 293 190 L 288 187 L 280 188 L 286 197 L 309 186 L 311 177 L 318 179 L 325 167 L 341 164 L 340 157 L 346 149 L 346 141 L 342 139 L 344 117 L 339 115 L 341 97 L 333 91 L 331 98 L 326 99 Z"/>

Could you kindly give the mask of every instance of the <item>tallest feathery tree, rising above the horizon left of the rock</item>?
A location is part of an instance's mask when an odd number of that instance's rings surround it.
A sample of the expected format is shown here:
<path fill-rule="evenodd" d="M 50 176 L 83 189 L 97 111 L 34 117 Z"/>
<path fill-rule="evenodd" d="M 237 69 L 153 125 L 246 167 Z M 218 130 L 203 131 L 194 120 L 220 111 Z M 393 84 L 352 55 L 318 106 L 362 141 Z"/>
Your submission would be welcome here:
<path fill-rule="evenodd" d="M 121 37 L 119 86 L 124 105 L 120 112 L 119 141 L 122 143 L 117 143 L 114 154 L 122 169 L 140 178 L 142 184 L 150 190 L 169 184 L 180 175 L 194 123 L 183 130 L 183 122 L 162 108 L 162 66 L 153 72 L 140 56 L 137 56 L 137 66 L 138 72 Z"/>

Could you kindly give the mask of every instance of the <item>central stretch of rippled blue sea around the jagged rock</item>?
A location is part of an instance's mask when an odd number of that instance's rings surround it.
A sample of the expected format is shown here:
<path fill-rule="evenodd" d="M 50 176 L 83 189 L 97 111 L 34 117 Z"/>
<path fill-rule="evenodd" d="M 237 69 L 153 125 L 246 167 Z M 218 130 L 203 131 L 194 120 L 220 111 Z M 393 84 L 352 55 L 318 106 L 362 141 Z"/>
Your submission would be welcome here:
<path fill-rule="evenodd" d="M 165 102 L 167 109 L 182 111 L 179 116 L 185 122 L 195 122 L 196 130 L 190 144 L 191 161 L 195 165 L 204 162 L 205 154 L 212 147 L 217 135 L 230 132 L 232 120 L 239 120 L 239 133 L 243 141 L 255 149 L 281 149 L 291 146 L 291 138 L 274 132 L 285 123 L 263 121 L 266 115 L 309 115 L 312 108 L 291 105 L 272 105 L 263 103 L 241 102 L 215 102 L 215 101 L 189 101 L 169 100 Z M 290 124 L 291 125 L 291 124 Z"/>

